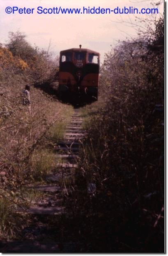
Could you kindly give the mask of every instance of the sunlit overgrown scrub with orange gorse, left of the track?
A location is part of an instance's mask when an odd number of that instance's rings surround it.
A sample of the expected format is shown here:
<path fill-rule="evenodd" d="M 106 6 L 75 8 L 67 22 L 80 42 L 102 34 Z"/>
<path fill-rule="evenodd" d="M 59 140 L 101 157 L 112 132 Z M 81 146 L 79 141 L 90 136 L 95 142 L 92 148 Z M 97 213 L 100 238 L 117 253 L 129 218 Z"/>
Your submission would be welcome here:
<path fill-rule="evenodd" d="M 38 182 L 53 169 L 54 144 L 62 138 L 62 119 L 72 107 L 63 105 L 33 85 L 53 81 L 57 62 L 49 52 L 32 47 L 20 32 L 0 45 L 0 235 L 13 236 L 25 221 L 18 207 L 30 203 L 23 186 Z M 22 104 L 30 85 L 31 105 Z M 34 199 L 38 192 L 34 193 Z M 30 194 L 29 193 L 29 194 Z"/>

